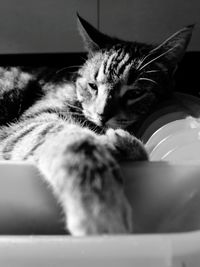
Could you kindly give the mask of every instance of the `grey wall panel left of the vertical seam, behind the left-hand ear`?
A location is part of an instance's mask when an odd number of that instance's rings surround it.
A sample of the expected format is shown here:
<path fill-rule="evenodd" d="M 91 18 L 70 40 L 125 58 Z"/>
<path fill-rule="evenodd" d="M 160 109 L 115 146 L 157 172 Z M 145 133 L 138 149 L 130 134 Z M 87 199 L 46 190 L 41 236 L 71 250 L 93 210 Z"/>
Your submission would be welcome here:
<path fill-rule="evenodd" d="M 76 12 L 97 24 L 96 0 L 0 0 L 0 54 L 81 51 Z"/>

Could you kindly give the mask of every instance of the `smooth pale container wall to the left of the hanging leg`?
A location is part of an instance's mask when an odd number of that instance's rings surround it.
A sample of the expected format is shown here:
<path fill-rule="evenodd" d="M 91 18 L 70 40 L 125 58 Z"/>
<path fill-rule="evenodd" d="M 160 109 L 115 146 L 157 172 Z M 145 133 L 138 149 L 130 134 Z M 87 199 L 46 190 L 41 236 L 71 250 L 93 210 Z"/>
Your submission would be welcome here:
<path fill-rule="evenodd" d="M 0 235 L 64 233 L 60 209 L 39 171 L 0 161 Z"/>

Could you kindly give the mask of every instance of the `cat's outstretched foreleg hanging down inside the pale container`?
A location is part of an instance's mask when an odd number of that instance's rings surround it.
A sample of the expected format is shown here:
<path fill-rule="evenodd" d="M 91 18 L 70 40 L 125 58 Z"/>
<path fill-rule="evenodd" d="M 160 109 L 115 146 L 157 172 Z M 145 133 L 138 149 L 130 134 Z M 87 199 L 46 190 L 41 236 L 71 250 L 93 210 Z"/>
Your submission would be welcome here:
<path fill-rule="evenodd" d="M 132 232 L 120 170 L 99 136 L 67 126 L 37 153 L 37 165 L 61 203 L 72 235 Z"/>

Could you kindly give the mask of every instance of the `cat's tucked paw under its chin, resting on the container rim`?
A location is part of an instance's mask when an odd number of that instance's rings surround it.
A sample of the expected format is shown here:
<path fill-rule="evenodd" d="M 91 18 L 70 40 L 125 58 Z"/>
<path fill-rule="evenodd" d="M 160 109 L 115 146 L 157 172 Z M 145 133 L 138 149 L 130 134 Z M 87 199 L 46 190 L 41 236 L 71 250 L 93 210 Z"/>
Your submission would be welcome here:
<path fill-rule="evenodd" d="M 108 141 L 114 145 L 119 160 L 148 160 L 148 153 L 143 143 L 122 129 L 108 129 Z"/>

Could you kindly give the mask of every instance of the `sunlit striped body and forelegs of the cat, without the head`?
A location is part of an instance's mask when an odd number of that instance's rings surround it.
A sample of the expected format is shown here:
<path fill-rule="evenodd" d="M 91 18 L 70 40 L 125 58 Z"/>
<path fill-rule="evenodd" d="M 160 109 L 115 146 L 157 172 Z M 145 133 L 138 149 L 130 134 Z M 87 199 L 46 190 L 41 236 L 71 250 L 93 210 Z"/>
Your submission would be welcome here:
<path fill-rule="evenodd" d="M 130 144 L 134 151 L 140 143 L 128 136 L 129 141 L 120 130 L 98 132 L 83 117 L 75 84 L 66 82 L 45 84 L 34 105 L 0 131 L 1 159 L 37 165 L 61 203 L 66 228 L 73 235 L 132 231 L 117 160 L 137 157 L 127 151 Z M 147 159 L 142 144 L 136 150 L 138 160 Z"/>

